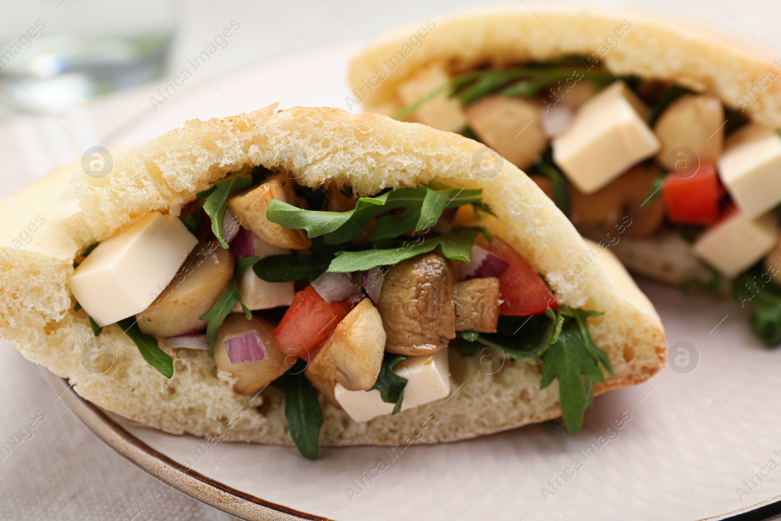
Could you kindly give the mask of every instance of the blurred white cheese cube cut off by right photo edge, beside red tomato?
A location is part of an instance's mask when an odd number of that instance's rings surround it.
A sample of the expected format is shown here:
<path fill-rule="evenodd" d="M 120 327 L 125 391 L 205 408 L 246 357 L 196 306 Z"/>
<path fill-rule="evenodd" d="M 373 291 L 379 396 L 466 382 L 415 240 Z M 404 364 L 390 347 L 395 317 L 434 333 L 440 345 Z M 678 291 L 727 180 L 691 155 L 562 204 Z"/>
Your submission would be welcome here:
<path fill-rule="evenodd" d="M 781 202 L 781 136 L 770 132 L 728 148 L 719 177 L 748 219 L 772 209 Z"/>

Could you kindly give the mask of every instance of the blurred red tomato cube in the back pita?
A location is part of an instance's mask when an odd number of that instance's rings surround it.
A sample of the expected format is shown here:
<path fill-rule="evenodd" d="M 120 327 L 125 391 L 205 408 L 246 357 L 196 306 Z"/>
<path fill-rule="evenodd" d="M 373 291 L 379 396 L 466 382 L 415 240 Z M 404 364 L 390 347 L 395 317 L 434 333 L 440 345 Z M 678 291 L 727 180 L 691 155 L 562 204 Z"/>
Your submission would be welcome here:
<path fill-rule="evenodd" d="M 719 220 L 724 187 L 715 165 L 703 162 L 694 171 L 669 173 L 662 185 L 662 195 L 670 221 L 704 226 Z"/>

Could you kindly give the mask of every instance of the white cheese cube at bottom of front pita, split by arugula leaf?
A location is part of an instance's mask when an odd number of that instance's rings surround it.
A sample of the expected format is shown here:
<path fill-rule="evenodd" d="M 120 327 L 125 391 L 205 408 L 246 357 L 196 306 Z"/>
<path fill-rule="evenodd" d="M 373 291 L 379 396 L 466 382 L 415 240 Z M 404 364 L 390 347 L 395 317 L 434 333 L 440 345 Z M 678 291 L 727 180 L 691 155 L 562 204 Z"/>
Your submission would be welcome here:
<path fill-rule="evenodd" d="M 450 394 L 448 350 L 440 349 L 433 355 L 410 356 L 394 366 L 394 373 L 406 378 L 401 410 L 412 409 Z M 380 391 L 348 391 L 341 384 L 333 389 L 333 395 L 352 419 L 368 422 L 369 419 L 391 414 L 394 404 L 380 398 Z"/>

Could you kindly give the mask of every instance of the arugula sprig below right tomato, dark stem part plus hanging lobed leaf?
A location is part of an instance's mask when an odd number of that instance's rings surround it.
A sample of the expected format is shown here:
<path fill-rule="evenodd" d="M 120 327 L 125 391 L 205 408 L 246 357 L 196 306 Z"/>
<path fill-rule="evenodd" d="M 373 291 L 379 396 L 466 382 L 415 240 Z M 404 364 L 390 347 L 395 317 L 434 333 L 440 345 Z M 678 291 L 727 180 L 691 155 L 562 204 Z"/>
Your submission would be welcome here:
<path fill-rule="evenodd" d="M 594 384 L 604 382 L 600 365 L 615 378 L 607 353 L 594 344 L 588 331 L 587 319 L 601 314 L 560 306 L 555 311 L 547 309 L 544 316 L 501 317 L 498 334 L 469 331 L 458 336 L 467 341 L 462 349 L 465 355 L 483 344 L 501 350 L 510 359 L 531 365 L 543 362 L 540 389 L 558 380 L 562 417 L 574 436 L 591 405 Z M 523 321 L 513 331 L 519 319 Z"/>

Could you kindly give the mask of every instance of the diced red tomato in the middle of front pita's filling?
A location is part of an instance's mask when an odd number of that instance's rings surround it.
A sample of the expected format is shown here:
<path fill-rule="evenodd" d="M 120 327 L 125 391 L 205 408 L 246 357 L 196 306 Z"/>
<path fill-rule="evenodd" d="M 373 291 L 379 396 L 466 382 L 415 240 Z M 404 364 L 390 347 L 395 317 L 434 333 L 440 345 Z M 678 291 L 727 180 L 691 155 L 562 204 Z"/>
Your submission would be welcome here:
<path fill-rule="evenodd" d="M 295 294 L 293 303 L 273 330 L 276 347 L 285 355 L 308 360 L 352 309 L 349 298 L 328 304 L 311 285 Z"/>

